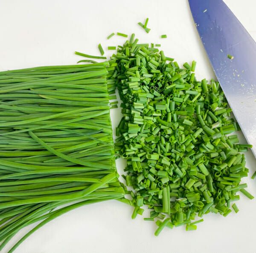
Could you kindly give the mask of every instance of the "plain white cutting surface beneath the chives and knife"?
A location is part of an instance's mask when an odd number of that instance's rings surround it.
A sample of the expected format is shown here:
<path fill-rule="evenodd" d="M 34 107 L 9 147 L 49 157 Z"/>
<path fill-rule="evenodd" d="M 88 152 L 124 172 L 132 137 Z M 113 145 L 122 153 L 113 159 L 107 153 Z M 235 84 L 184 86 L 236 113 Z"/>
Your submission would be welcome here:
<path fill-rule="evenodd" d="M 213 0 L 212 0 L 213 1 Z M 226 0 L 230 9 L 256 40 L 256 2 Z M 137 22 L 149 17 L 146 34 Z M 0 0 L 0 70 L 30 66 L 74 64 L 74 51 L 97 55 L 97 43 L 122 44 L 112 32 L 135 32 L 140 43 L 161 43 L 165 55 L 179 63 L 197 61 L 198 79 L 214 77 L 193 24 L 187 0 Z M 160 35 L 167 34 L 167 39 Z M 109 53 L 110 55 L 110 53 Z M 112 111 L 113 126 L 120 110 Z M 241 141 L 244 139 L 241 136 Z M 250 175 L 256 169 L 246 154 Z M 118 161 L 121 171 L 123 164 Z M 256 196 L 256 181 L 246 178 Z M 73 210 L 29 237 L 16 253 L 255 253 L 256 200 L 241 196 L 239 213 L 226 218 L 209 214 L 198 230 L 165 229 L 154 236 L 156 225 L 137 217 L 132 208 L 108 201 Z M 3 252 L 23 235 L 22 230 Z"/>

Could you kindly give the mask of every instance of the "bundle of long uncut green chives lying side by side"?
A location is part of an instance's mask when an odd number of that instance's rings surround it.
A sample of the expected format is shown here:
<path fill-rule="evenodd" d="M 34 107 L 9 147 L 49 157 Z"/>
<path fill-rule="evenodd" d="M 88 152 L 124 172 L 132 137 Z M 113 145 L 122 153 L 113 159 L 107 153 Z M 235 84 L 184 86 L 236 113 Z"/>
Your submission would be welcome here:
<path fill-rule="evenodd" d="M 29 224 L 41 221 L 9 252 L 62 213 L 124 196 L 109 115 L 114 68 L 0 72 L 0 250 Z"/>

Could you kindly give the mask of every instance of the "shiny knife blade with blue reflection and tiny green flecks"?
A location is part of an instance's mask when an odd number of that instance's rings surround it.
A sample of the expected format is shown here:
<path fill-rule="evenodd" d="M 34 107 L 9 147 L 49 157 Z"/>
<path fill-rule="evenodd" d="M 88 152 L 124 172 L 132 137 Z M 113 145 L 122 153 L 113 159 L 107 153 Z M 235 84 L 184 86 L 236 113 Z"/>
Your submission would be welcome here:
<path fill-rule="evenodd" d="M 189 0 L 189 5 L 215 75 L 256 157 L 256 43 L 222 0 Z"/>

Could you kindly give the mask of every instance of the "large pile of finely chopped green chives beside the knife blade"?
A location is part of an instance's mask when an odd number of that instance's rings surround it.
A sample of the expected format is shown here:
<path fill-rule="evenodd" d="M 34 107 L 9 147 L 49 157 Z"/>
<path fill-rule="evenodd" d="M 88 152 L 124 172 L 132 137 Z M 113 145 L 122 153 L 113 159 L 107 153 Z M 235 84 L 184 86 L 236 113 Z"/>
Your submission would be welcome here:
<path fill-rule="evenodd" d="M 163 37 L 163 35 L 162 35 Z M 183 68 L 134 34 L 111 62 L 122 100 L 122 120 L 116 128 L 116 152 L 127 160 L 128 187 L 135 206 L 143 205 L 155 220 L 158 235 L 164 227 L 186 225 L 195 230 L 196 216 L 227 216 L 239 192 L 253 198 L 241 184 L 248 169 L 239 144 L 239 125 L 218 82 L 195 78 L 193 61 Z"/>

